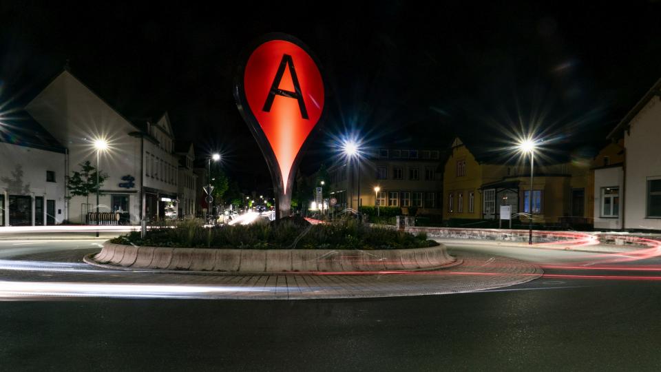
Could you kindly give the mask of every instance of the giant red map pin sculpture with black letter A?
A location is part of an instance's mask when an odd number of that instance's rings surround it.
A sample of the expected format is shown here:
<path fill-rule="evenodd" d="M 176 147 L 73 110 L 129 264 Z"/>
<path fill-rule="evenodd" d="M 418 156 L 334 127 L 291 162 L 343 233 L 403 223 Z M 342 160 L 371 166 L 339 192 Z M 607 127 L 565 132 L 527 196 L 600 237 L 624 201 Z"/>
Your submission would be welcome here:
<path fill-rule="evenodd" d="M 324 112 L 319 63 L 286 34 L 266 35 L 244 54 L 234 96 L 269 165 L 276 218 L 289 216 L 301 149 Z"/>

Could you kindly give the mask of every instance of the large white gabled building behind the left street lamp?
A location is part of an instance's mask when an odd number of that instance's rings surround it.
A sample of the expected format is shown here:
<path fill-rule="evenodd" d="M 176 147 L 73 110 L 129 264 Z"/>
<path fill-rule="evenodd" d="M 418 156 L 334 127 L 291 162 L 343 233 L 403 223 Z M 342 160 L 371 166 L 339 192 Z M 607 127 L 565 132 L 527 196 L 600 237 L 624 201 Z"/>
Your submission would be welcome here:
<path fill-rule="evenodd" d="M 25 110 L 68 151 L 67 174 L 90 161 L 108 175 L 101 188 L 100 211 L 120 212 L 127 222 L 177 216 L 178 157 L 169 116 L 134 123 L 64 70 Z M 94 141 L 107 141 L 97 152 Z M 98 155 L 98 157 L 97 157 Z M 96 210 L 96 196 L 71 198 L 67 219 L 85 223 Z"/>

